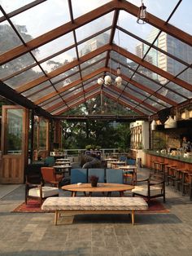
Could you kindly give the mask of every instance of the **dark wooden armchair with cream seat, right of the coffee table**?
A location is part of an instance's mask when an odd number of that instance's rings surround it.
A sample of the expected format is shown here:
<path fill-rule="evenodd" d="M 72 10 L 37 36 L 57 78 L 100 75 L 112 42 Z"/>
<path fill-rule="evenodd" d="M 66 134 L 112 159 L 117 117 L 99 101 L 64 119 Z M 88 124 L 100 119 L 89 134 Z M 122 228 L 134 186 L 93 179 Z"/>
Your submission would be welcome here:
<path fill-rule="evenodd" d="M 137 180 L 135 183 L 142 183 L 142 185 L 135 186 L 135 188 L 133 188 L 133 196 L 143 196 L 146 198 L 148 203 L 152 198 L 163 197 L 165 203 L 164 179 L 159 179 L 159 177 L 154 175 L 150 176 L 148 179 Z"/>

